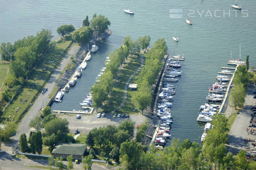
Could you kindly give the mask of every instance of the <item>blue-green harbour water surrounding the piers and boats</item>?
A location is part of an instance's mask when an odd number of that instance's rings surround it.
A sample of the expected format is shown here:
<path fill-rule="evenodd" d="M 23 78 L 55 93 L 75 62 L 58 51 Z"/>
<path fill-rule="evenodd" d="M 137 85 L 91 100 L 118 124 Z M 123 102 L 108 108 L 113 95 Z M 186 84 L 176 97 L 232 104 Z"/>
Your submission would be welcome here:
<path fill-rule="evenodd" d="M 56 29 L 63 24 L 73 24 L 78 28 L 86 15 L 89 19 L 97 12 L 104 14 L 111 21 L 112 35 L 99 44 L 99 51 L 92 54 L 88 68 L 83 71 L 77 85 L 65 94 L 62 103 L 56 103 L 53 109 L 72 110 L 79 108 L 79 103 L 88 93 L 88 88 L 94 84 L 95 77 L 104 66 L 105 57 L 118 48 L 127 35 L 135 40 L 144 35 L 151 37 L 151 46 L 158 38 L 165 38 L 168 50 L 177 54 L 185 54 L 182 62 L 182 77 L 176 86 L 174 98 L 174 125 L 171 134 L 180 139 L 189 138 L 200 142 L 203 126 L 196 122 L 199 106 L 206 102 L 208 87 L 215 82 L 220 67 L 227 66 L 227 59 L 239 57 L 241 43 L 242 59 L 250 54 L 250 64 L 255 65 L 256 59 L 256 5 L 253 0 L 239 0 L 242 9 L 248 10 L 248 17 L 238 11 L 237 15 L 230 7 L 231 1 L 201 1 L 201 0 L 130 0 L 129 8 L 135 14 L 128 15 L 122 10 L 126 8 L 125 0 L 94 0 L 85 2 L 77 0 L 0 0 L 0 42 L 14 42 L 31 34 L 36 34 L 42 28 L 50 29 L 54 38 L 58 37 Z M 170 9 L 181 8 L 183 18 L 170 18 Z M 185 23 L 187 11 L 191 14 L 193 25 Z M 201 15 L 199 17 L 198 10 Z M 204 11 L 203 11 L 204 10 Z M 205 17 L 206 14 L 213 17 Z M 214 10 L 216 16 L 214 17 Z M 225 14 L 230 10 L 230 17 Z M 192 12 L 192 11 L 190 11 Z M 174 42 L 170 37 L 179 37 Z"/>

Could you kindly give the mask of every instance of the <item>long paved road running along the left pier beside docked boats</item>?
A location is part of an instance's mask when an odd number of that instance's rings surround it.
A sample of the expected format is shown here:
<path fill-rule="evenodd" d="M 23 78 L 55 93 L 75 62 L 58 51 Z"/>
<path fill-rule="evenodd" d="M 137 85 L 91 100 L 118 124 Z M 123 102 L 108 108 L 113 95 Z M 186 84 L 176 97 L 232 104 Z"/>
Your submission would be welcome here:
<path fill-rule="evenodd" d="M 45 88 L 48 88 L 48 91 L 46 91 L 45 94 L 40 94 L 36 101 L 34 102 L 33 106 L 29 109 L 28 113 L 24 116 L 22 121 L 20 122 L 19 127 L 17 128 L 17 132 L 15 136 L 12 136 L 11 139 L 14 140 L 14 142 L 7 143 L 5 145 L 2 144 L 2 149 L 5 150 L 8 153 L 11 153 L 13 150 L 16 150 L 18 147 L 18 140 L 20 139 L 20 135 L 23 133 L 26 133 L 26 136 L 29 136 L 29 133 L 32 128 L 29 127 L 29 122 L 34 119 L 37 116 L 38 111 L 43 106 L 43 104 L 46 104 L 46 102 L 49 100 L 49 95 L 53 91 L 55 87 L 55 82 L 59 78 L 60 73 L 63 71 L 65 66 L 68 64 L 70 58 L 72 57 L 72 54 L 76 54 L 79 50 L 79 46 L 74 45 L 68 53 L 65 55 L 65 58 L 60 63 L 59 67 L 56 69 L 54 74 L 52 74 L 49 82 L 45 85 Z"/>

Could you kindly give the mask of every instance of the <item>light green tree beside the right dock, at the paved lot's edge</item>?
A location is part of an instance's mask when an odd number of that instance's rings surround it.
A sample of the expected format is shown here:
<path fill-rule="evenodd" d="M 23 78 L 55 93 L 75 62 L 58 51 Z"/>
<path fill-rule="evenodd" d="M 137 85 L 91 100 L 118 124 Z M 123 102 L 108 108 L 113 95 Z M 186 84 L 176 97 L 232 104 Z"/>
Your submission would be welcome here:
<path fill-rule="evenodd" d="M 231 89 L 229 101 L 231 102 L 231 105 L 235 107 L 235 109 L 236 109 L 236 106 L 238 106 L 239 108 L 242 108 L 245 103 L 245 96 L 246 96 L 246 91 L 245 91 L 244 85 L 238 84 Z"/>

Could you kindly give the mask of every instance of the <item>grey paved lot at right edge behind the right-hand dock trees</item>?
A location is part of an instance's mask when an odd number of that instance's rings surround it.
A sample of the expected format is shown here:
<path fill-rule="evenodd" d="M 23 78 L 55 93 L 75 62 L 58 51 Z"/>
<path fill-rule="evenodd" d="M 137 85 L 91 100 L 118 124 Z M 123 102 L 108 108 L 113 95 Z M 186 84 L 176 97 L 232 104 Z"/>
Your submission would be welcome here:
<path fill-rule="evenodd" d="M 250 143 L 245 143 L 245 138 L 256 139 L 255 135 L 249 135 L 246 132 L 246 128 L 250 123 L 251 119 L 251 106 L 254 105 L 256 99 L 253 99 L 253 89 L 248 88 L 247 96 L 245 97 L 245 107 L 240 114 L 236 116 L 233 125 L 229 132 L 229 144 L 227 145 L 228 150 L 232 153 L 238 153 L 239 150 L 245 149 L 245 147 L 250 147 Z"/>

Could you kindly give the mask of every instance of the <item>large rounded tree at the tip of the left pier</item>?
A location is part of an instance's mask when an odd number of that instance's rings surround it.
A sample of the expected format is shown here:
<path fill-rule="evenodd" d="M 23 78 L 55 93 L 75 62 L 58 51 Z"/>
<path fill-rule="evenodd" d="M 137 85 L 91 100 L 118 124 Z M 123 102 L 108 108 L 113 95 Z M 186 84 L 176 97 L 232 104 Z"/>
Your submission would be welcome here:
<path fill-rule="evenodd" d="M 104 33 L 110 25 L 111 23 L 108 20 L 108 17 L 105 17 L 104 15 L 94 17 L 90 23 L 91 29 L 94 31 L 94 34 L 97 35 Z"/>

